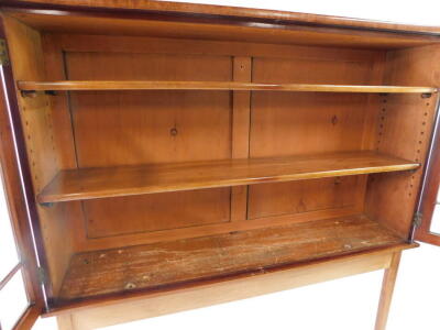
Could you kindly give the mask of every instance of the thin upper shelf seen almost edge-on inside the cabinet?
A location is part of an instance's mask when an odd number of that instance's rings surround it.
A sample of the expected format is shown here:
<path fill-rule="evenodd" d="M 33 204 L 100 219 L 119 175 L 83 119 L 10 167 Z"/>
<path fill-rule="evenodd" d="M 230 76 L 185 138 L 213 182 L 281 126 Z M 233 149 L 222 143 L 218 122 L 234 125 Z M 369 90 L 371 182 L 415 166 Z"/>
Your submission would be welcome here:
<path fill-rule="evenodd" d="M 38 90 L 279 90 L 327 92 L 400 92 L 432 94 L 433 87 L 310 85 L 310 84 L 260 84 L 237 81 L 142 81 L 142 80 L 63 80 L 18 81 L 22 91 Z"/>

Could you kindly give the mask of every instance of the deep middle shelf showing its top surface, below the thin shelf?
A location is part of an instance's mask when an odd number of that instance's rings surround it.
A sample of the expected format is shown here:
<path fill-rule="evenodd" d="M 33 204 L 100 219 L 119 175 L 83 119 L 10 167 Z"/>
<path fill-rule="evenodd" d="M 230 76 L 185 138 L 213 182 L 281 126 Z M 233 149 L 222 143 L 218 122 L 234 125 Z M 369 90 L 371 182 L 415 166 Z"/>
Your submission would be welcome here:
<path fill-rule="evenodd" d="M 40 202 L 407 170 L 419 164 L 370 151 L 62 170 Z"/>

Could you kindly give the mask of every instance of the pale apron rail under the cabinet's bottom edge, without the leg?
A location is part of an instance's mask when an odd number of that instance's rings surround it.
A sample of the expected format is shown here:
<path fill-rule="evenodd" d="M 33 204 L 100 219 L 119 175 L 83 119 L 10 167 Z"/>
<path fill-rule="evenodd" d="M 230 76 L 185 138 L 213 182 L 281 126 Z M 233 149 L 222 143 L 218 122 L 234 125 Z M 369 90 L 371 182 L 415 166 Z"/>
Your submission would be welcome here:
<path fill-rule="evenodd" d="M 57 306 L 43 317 L 62 318 L 66 326 L 59 330 L 91 330 L 387 268 L 395 252 L 416 246 L 392 245 L 178 288 L 132 292 L 113 299 L 86 299 Z"/>

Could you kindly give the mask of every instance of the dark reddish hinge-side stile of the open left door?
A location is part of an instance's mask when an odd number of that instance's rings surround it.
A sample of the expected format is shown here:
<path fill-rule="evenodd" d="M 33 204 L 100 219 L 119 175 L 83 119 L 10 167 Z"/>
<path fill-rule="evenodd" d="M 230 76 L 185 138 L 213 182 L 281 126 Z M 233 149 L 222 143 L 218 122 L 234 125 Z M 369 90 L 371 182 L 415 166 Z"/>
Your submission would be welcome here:
<path fill-rule="evenodd" d="M 0 19 L 0 37 L 4 38 L 3 21 Z M 44 294 L 38 280 L 37 267 L 47 270 L 40 221 L 36 213 L 35 197 L 24 135 L 21 125 L 16 89 L 10 65 L 0 66 L 0 162 L 2 164 L 4 188 L 23 264 L 23 277 L 29 299 L 41 307 L 45 305 Z M 32 237 L 32 234 L 33 237 Z M 46 295 L 51 285 L 46 284 Z"/>

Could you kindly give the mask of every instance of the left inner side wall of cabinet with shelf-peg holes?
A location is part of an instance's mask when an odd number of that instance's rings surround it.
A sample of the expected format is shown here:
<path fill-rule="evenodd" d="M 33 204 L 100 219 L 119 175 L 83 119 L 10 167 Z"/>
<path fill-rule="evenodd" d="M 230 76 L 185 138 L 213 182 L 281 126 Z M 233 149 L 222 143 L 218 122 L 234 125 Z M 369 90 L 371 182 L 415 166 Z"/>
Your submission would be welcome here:
<path fill-rule="evenodd" d="M 16 80 L 44 80 L 40 33 L 11 18 L 4 18 L 4 26 L 14 78 Z M 24 98 L 18 95 L 18 99 L 32 184 L 36 195 L 59 168 L 52 131 L 51 105 L 44 95 L 35 98 Z M 37 206 L 50 278 L 55 295 L 59 290 L 74 250 L 69 235 L 72 228 L 68 208 L 68 205 L 63 204 L 53 208 Z"/>

